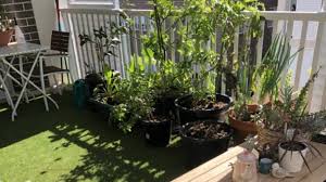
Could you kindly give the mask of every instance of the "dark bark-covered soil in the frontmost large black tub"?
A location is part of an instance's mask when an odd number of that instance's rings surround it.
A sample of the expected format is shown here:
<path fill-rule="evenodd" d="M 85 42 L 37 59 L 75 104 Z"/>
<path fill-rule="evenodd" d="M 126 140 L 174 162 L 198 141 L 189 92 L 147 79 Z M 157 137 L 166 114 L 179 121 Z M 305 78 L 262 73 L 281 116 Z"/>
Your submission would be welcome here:
<path fill-rule="evenodd" d="M 186 134 L 196 139 L 223 139 L 228 135 L 224 126 L 206 122 L 195 123 Z"/>

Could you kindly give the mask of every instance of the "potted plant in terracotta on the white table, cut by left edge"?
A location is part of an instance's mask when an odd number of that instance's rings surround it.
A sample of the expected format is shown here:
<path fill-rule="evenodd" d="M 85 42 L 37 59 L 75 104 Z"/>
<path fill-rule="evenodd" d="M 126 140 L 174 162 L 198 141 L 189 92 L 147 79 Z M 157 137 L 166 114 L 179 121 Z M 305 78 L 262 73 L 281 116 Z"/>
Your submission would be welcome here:
<path fill-rule="evenodd" d="M 8 46 L 13 35 L 14 21 L 7 16 L 2 5 L 0 5 L 0 47 Z"/>

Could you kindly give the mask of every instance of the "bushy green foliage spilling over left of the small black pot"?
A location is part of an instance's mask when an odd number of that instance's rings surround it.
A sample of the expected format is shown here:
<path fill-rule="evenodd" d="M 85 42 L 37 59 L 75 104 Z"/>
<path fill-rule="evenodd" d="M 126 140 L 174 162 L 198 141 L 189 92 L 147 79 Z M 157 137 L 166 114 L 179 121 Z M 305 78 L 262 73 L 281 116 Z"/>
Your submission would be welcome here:
<path fill-rule="evenodd" d="M 110 116 L 124 132 L 130 132 L 135 123 L 146 118 L 153 106 L 153 74 L 147 68 L 151 66 L 148 58 L 134 56 L 129 63 L 128 78 L 121 81 L 116 90 L 118 105 L 113 106 Z"/>

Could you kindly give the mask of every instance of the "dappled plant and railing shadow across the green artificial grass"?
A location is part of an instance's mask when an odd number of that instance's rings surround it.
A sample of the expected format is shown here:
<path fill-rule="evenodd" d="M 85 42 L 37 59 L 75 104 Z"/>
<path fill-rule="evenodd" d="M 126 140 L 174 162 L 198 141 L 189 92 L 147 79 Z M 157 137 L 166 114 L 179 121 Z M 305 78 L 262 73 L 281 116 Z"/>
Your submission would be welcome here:
<path fill-rule="evenodd" d="M 16 121 L 9 112 L 0 113 L 0 148 L 43 131 L 52 133 L 50 142 L 65 141 L 59 147 L 77 145 L 87 152 L 62 158 L 78 158 L 57 181 L 170 181 L 186 172 L 185 150 L 177 144 L 153 147 L 146 144 L 141 131 L 124 134 L 109 128 L 99 114 L 74 108 L 71 95 L 57 98 L 60 110 L 43 110 L 41 101 L 23 105 Z M 5 118 L 5 119 L 4 119 Z M 7 119 L 8 118 L 8 119 Z M 54 152 L 60 148 L 54 148 Z M 62 160 L 57 158 L 57 161 Z M 43 170 L 39 176 L 49 174 Z"/>

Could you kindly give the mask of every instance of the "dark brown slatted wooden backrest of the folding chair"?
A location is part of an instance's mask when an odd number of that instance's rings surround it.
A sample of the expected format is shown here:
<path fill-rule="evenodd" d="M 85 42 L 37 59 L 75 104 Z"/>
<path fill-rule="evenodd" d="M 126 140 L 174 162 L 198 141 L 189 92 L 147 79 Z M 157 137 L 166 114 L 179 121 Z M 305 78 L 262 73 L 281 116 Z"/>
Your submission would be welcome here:
<path fill-rule="evenodd" d="M 70 35 L 70 32 L 53 30 L 51 37 L 51 50 L 68 52 Z"/>

